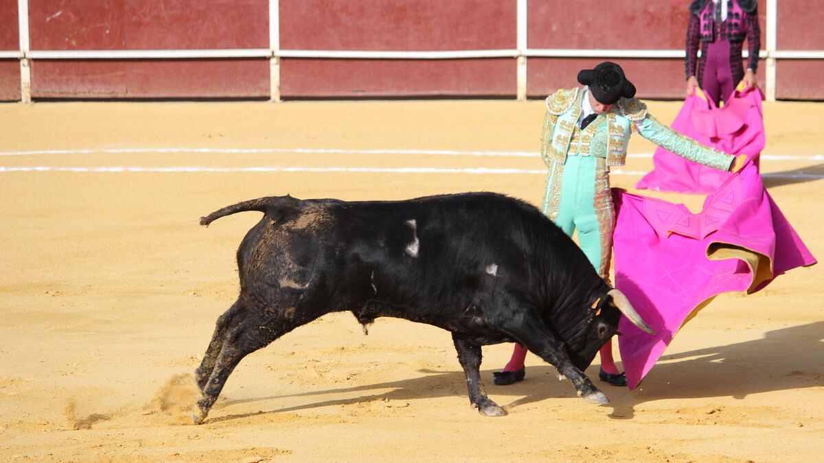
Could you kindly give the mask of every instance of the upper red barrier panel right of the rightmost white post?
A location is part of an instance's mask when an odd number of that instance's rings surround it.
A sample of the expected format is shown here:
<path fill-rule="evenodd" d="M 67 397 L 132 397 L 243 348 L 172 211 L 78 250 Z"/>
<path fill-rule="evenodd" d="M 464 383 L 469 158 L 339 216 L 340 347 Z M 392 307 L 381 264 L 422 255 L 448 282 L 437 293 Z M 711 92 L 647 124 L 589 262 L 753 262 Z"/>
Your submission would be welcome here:
<path fill-rule="evenodd" d="M 764 8 L 759 5 L 759 10 Z M 761 26 L 764 26 L 761 22 Z M 821 3 L 778 2 L 780 49 L 824 49 L 824 9 Z M 761 31 L 762 34 L 765 30 Z M 765 36 L 762 37 L 765 40 Z M 761 48 L 764 48 L 763 46 Z"/>

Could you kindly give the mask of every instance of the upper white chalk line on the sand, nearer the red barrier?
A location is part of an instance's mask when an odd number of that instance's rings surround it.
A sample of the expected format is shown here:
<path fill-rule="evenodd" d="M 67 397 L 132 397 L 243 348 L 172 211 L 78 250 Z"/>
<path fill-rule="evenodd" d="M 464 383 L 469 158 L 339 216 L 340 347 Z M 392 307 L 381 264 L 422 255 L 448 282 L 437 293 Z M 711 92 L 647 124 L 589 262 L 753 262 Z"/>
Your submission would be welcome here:
<path fill-rule="evenodd" d="M 38 150 L 0 152 L 0 156 L 37 156 L 46 154 L 144 154 L 144 153 L 214 153 L 214 154 L 413 154 L 432 156 L 489 156 L 489 157 L 536 157 L 539 152 L 521 151 L 453 151 L 416 149 L 312 149 L 312 148 L 112 148 L 86 150 Z M 652 153 L 629 154 L 627 157 L 653 157 Z M 761 159 L 770 161 L 824 161 L 824 154 L 777 155 L 762 154 Z"/>

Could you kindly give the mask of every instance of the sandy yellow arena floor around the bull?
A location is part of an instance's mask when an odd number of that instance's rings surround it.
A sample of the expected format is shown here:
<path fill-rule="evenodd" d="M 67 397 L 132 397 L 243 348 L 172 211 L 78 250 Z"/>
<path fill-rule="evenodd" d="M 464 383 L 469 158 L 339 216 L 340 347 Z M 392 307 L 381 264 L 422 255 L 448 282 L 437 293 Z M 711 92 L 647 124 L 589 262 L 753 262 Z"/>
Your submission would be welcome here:
<path fill-rule="evenodd" d="M 664 121 L 679 108 L 650 103 Z M 765 117 L 765 183 L 822 259 L 824 105 L 768 103 Z M 490 152 L 537 152 L 542 118 L 541 101 L 0 105 L 0 458 L 821 461 L 821 264 L 718 297 L 638 390 L 604 386 L 609 406 L 578 399 L 535 356 L 527 381 L 492 386 L 506 344 L 485 348 L 482 373 L 509 414 L 482 417 L 446 331 L 379 319 L 364 336 L 343 313 L 247 357 L 208 421 L 189 424 L 190 373 L 236 297 L 234 252 L 260 214 L 208 229 L 199 217 L 287 193 L 537 203 L 540 157 Z M 630 157 L 612 183 L 632 189 L 651 167 Z"/>

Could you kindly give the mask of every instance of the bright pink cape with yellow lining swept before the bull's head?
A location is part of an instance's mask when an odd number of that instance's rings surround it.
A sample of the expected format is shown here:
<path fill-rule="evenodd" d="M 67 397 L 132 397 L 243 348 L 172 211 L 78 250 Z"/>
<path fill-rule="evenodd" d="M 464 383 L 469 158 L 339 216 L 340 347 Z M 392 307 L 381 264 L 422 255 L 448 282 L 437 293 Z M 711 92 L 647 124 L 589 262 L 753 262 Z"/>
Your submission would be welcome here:
<path fill-rule="evenodd" d="M 616 288 L 656 332 L 621 318 L 620 357 L 630 389 L 715 296 L 756 292 L 789 269 L 816 263 L 751 161 L 705 199 L 700 213 L 620 189 L 613 196 Z"/>

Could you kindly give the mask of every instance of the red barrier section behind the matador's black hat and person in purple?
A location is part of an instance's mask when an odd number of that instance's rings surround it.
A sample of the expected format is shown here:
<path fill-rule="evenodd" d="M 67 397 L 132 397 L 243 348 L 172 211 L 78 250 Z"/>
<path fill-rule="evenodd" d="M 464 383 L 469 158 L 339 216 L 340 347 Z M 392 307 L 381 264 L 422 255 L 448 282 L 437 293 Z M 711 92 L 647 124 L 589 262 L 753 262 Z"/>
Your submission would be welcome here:
<path fill-rule="evenodd" d="M 586 4 L 589 4 L 587 7 Z M 668 2 L 528 2 L 531 49 L 684 49 L 691 0 Z M 585 12 L 587 14 L 582 14 Z M 764 13 L 761 26 L 765 26 Z M 607 18 L 607 19 L 605 19 Z M 762 37 L 763 37 L 762 31 Z M 763 48 L 765 44 L 761 44 Z M 545 96 L 578 85 L 578 71 L 604 58 L 529 58 L 527 94 Z M 643 98 L 682 98 L 683 58 L 611 58 L 620 63 Z M 758 77 L 764 86 L 764 71 Z"/>

